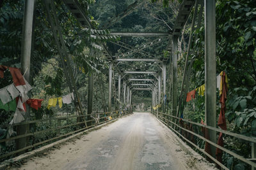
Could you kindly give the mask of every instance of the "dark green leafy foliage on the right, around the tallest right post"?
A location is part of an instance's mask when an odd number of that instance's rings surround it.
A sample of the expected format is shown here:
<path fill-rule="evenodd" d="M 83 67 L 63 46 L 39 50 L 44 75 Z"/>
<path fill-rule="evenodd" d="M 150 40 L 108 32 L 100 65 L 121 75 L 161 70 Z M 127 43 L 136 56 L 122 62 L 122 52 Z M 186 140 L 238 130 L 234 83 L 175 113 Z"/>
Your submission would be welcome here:
<path fill-rule="evenodd" d="M 255 11 L 255 1 L 219 0 L 216 3 L 216 69 L 217 73 L 225 71 L 228 76 L 229 88 L 225 114 L 227 127 L 228 131 L 246 136 L 256 134 Z M 190 56 L 195 59 L 189 82 L 191 89 L 204 84 L 205 81 L 204 26 L 193 32 L 193 37 L 195 36 L 197 39 L 192 42 L 195 53 Z M 217 99 L 219 100 L 219 97 Z M 204 100 L 200 101 L 200 97 L 199 99 L 196 97 L 194 103 L 194 106 L 193 102 L 188 103 L 186 110 L 188 115 L 184 116 L 199 122 L 200 118 L 204 117 Z M 216 104 L 218 106 L 219 101 L 216 101 Z M 219 107 L 217 107 L 217 120 L 218 113 L 220 113 Z M 228 150 L 250 157 L 250 147 L 248 147 L 250 143 L 228 136 L 225 136 L 224 140 L 224 146 Z M 250 168 L 227 153 L 223 155 L 223 162 L 230 169 Z"/>

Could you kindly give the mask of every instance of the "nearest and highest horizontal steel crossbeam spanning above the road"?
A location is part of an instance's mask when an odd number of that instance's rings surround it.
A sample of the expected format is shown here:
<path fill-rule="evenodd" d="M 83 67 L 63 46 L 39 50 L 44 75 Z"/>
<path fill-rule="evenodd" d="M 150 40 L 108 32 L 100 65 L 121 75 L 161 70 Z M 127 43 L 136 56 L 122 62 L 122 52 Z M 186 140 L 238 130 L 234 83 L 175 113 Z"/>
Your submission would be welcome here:
<path fill-rule="evenodd" d="M 169 36 L 168 32 L 110 32 L 111 36 Z"/>

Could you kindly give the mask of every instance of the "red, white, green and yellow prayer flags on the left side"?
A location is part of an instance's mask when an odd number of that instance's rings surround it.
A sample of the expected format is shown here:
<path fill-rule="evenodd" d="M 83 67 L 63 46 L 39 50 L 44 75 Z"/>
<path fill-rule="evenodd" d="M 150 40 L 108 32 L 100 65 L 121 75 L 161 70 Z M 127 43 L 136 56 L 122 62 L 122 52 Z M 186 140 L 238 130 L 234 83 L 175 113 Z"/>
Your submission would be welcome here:
<path fill-rule="evenodd" d="M 38 108 L 41 108 L 44 99 L 29 99 L 28 92 L 32 87 L 26 81 L 24 75 L 22 76 L 19 68 L 0 65 L 0 78 L 4 78 L 4 72 L 7 70 L 12 75 L 13 83 L 0 89 L 0 109 L 15 111 L 8 130 L 8 136 L 11 136 L 13 134 L 13 124 L 19 124 L 26 118 L 26 104 L 38 110 Z M 51 98 L 47 108 L 56 106 L 57 100 L 61 108 L 62 103 L 70 104 L 72 99 L 74 100 L 73 92 L 63 97 Z"/>

